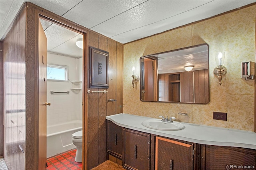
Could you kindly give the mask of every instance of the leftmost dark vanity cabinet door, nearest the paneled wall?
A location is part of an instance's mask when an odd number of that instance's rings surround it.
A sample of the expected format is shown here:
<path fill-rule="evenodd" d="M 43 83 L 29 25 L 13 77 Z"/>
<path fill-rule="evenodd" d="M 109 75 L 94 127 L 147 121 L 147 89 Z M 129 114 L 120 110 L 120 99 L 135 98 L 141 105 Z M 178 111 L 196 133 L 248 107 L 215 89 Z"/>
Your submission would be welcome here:
<path fill-rule="evenodd" d="M 122 127 L 107 121 L 107 145 L 108 145 L 108 154 L 115 156 L 116 158 L 122 159 L 122 150 L 123 150 L 123 136 L 122 136 Z"/>

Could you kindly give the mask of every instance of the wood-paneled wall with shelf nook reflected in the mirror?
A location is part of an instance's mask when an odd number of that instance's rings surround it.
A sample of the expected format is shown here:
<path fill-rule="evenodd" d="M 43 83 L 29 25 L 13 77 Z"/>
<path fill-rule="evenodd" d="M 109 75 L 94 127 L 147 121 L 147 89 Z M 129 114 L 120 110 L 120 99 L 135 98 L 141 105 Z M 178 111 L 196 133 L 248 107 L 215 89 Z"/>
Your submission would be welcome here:
<path fill-rule="evenodd" d="M 158 76 L 159 101 L 206 103 L 209 99 L 207 69 Z"/>

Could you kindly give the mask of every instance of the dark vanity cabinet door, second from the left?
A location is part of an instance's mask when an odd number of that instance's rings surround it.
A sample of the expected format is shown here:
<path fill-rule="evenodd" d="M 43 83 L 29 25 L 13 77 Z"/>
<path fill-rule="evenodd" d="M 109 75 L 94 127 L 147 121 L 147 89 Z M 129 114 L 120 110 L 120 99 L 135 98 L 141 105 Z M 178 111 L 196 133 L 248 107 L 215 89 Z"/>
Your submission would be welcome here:
<path fill-rule="evenodd" d="M 130 170 L 150 169 L 150 134 L 124 129 L 123 166 Z"/>

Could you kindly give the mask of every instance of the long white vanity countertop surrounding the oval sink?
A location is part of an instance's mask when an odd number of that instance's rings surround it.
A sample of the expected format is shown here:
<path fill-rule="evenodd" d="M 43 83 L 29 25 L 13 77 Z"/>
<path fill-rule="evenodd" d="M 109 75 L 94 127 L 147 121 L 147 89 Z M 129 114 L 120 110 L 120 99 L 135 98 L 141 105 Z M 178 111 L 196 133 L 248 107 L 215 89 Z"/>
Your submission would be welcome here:
<path fill-rule="evenodd" d="M 182 122 L 180 123 L 185 126 L 185 128 L 182 130 L 155 130 L 144 127 L 142 125 L 143 121 L 155 118 L 130 115 L 126 113 L 107 116 L 106 119 L 112 121 L 120 127 L 130 128 L 150 134 L 156 134 L 159 136 L 165 136 L 168 138 L 174 138 L 198 144 L 256 149 L 256 133 L 246 130 L 211 127 Z"/>

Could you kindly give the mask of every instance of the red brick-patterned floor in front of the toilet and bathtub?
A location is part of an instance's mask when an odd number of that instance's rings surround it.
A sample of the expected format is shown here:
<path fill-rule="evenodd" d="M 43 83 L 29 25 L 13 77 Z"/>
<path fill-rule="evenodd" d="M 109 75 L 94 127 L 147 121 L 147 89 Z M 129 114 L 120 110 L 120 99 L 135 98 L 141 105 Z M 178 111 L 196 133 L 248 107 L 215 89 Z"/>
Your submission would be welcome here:
<path fill-rule="evenodd" d="M 75 162 L 76 149 L 47 159 L 46 170 L 82 170 L 82 162 Z"/>

